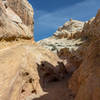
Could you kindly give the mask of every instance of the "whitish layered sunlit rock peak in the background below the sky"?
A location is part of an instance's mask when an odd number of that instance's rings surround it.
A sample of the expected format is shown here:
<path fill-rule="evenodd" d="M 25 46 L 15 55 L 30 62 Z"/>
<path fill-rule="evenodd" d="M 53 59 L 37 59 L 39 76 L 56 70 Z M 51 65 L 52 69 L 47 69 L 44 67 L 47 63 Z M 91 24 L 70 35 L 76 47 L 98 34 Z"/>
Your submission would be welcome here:
<path fill-rule="evenodd" d="M 70 20 L 59 27 L 52 37 L 40 40 L 38 43 L 56 53 L 62 48 L 77 49 L 76 45 L 80 45 L 81 41 L 74 40 L 74 36 L 82 31 L 83 26 L 84 22 Z"/>

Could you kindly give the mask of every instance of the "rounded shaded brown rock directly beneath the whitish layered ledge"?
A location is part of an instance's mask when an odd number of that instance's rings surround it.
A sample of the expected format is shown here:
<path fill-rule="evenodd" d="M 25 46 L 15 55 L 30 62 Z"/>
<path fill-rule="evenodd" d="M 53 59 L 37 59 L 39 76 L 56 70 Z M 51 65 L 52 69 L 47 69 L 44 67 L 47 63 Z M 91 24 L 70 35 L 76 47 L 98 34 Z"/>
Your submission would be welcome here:
<path fill-rule="evenodd" d="M 77 51 L 70 51 L 68 48 L 61 49 L 57 55 L 64 60 L 65 68 L 69 73 L 73 73 L 82 63 L 79 52 L 77 54 Z"/>

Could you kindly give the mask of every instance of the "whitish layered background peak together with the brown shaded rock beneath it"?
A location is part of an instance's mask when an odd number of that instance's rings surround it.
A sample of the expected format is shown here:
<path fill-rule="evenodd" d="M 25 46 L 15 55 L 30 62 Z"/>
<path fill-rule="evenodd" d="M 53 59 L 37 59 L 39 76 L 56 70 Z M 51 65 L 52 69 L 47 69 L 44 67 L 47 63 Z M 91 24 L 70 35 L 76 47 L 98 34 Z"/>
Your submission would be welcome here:
<path fill-rule="evenodd" d="M 83 41 L 75 40 L 75 34 L 82 32 L 84 22 L 70 20 L 58 28 L 54 36 L 40 40 L 38 43 L 43 47 L 57 53 L 58 57 L 64 60 L 68 72 L 74 72 L 81 64 L 82 57 L 77 49 Z M 80 51 L 80 50 L 78 50 Z"/>

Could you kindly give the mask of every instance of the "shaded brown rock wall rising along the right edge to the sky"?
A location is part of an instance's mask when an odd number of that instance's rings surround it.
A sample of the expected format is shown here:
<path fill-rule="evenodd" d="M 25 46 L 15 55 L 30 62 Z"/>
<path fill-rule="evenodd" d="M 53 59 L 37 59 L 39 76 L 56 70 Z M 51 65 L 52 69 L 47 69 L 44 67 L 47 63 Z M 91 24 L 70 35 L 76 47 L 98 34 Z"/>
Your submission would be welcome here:
<path fill-rule="evenodd" d="M 86 42 L 80 47 L 83 52 L 83 62 L 74 72 L 69 81 L 69 87 L 76 95 L 75 100 L 100 99 L 100 10 L 95 18 L 84 26 L 81 33 Z M 81 38 L 81 37 L 80 37 Z M 84 51 L 85 48 L 85 51 Z M 86 52 L 87 51 L 87 52 Z"/>

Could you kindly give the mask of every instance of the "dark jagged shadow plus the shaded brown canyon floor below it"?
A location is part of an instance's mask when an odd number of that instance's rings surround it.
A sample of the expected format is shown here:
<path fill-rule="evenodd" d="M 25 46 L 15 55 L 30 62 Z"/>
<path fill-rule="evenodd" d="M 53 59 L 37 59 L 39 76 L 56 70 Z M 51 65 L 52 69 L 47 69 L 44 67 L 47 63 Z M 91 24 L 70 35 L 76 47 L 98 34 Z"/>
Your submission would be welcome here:
<path fill-rule="evenodd" d="M 32 100 L 73 100 L 74 95 L 68 89 L 71 73 L 66 72 L 62 62 L 57 67 L 44 61 L 38 65 L 40 85 L 47 94 Z M 58 69 L 57 69 L 58 68 Z"/>

